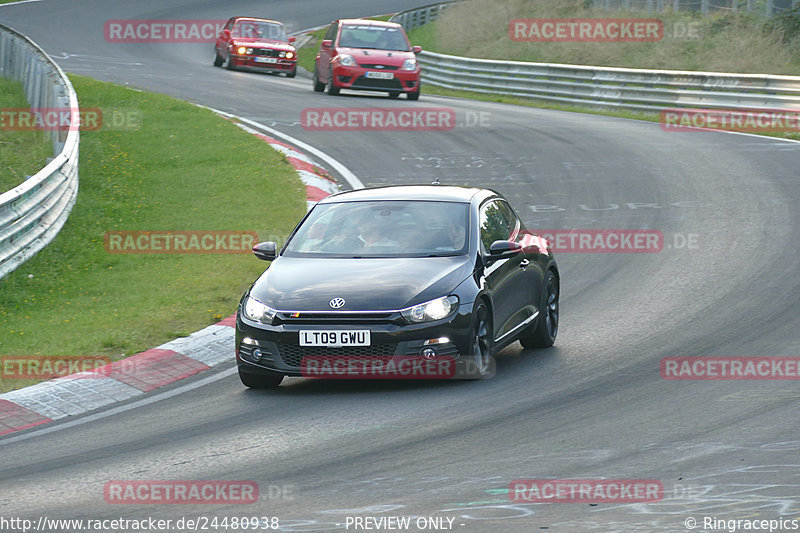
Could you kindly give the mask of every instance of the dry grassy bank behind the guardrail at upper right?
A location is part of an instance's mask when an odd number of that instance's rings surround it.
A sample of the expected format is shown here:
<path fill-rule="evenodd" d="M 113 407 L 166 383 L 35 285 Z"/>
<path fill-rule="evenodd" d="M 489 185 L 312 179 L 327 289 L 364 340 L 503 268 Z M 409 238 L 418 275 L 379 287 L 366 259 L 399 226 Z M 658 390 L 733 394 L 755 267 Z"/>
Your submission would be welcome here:
<path fill-rule="evenodd" d="M 414 44 L 445 54 L 485 59 L 645 69 L 800 75 L 800 7 L 764 19 L 739 11 L 605 12 L 575 0 L 468 0 L 448 8 L 433 24 L 410 32 Z M 517 18 L 657 18 L 656 42 L 517 42 Z M 480 24 L 475 21 L 480 20 Z M 689 33 L 691 31 L 691 33 Z"/>

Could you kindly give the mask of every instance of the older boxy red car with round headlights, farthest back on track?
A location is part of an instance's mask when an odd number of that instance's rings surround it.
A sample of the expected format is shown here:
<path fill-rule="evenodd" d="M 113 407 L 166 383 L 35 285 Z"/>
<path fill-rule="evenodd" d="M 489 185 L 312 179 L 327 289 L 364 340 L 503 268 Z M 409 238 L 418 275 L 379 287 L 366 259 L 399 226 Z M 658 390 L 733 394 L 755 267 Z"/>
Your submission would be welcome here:
<path fill-rule="evenodd" d="M 297 74 L 297 50 L 283 24 L 275 20 L 231 17 L 214 44 L 214 66 Z"/>

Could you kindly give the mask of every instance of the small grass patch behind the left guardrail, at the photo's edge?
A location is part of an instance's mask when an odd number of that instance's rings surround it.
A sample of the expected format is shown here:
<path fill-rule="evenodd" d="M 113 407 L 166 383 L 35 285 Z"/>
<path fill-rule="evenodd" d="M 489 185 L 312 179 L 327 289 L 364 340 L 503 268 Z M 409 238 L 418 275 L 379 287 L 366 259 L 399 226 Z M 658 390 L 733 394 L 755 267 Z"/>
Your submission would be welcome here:
<path fill-rule="evenodd" d="M 22 83 L 0 78 L 0 113 L 9 108 L 30 108 Z M 8 121 L 3 123 L 12 126 Z M 5 131 L 0 127 L 0 194 L 13 189 L 26 176 L 36 174 L 53 155 L 48 132 Z"/>

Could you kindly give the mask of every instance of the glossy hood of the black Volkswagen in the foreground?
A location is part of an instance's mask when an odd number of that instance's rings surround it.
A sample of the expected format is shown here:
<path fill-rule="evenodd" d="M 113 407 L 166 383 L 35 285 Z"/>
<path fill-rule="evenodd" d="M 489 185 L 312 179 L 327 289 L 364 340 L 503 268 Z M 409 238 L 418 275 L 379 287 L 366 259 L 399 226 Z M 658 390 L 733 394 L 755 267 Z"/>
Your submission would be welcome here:
<path fill-rule="evenodd" d="M 253 285 L 251 296 L 279 311 L 396 310 L 451 291 L 472 273 L 467 256 L 309 259 L 279 257 Z"/>

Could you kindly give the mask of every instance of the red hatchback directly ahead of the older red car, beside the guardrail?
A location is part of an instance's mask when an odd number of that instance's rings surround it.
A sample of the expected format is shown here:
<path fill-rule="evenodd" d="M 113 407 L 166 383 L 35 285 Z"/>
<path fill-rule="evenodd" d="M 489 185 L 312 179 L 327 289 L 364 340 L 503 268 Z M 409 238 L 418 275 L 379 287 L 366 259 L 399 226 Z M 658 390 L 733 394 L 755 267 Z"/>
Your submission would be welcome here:
<path fill-rule="evenodd" d="M 342 19 L 331 23 L 314 64 L 314 90 L 337 95 L 341 89 L 383 91 L 417 100 L 420 70 L 400 24 Z"/>

